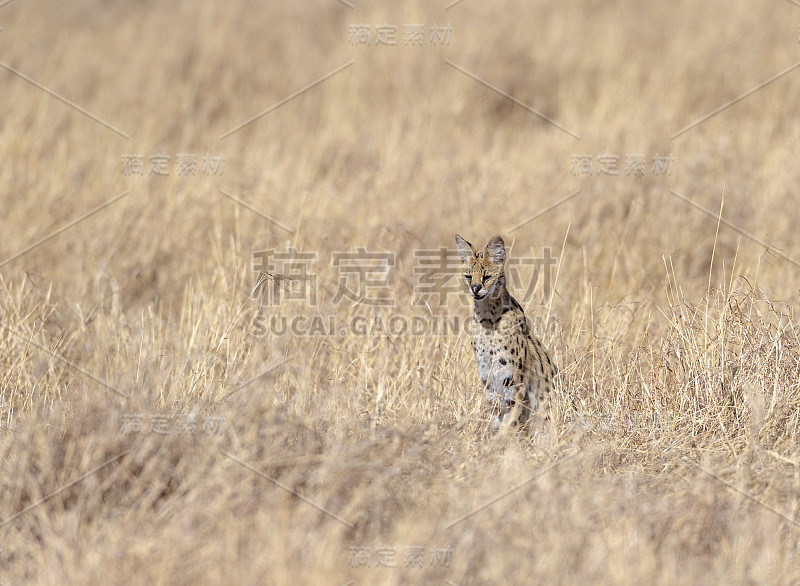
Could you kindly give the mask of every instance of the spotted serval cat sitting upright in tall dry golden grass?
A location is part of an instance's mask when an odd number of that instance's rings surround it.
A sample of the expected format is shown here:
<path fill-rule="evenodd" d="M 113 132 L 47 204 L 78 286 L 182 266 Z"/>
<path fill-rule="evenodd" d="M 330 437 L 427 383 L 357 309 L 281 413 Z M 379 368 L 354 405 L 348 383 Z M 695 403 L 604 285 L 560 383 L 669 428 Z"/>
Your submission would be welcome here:
<path fill-rule="evenodd" d="M 456 234 L 456 246 L 467 291 L 475 300 L 472 349 L 496 414 L 495 427 L 525 425 L 537 411 L 547 418 L 556 367 L 506 288 L 503 239 L 495 236 L 484 250 L 475 250 Z"/>

